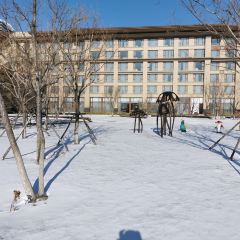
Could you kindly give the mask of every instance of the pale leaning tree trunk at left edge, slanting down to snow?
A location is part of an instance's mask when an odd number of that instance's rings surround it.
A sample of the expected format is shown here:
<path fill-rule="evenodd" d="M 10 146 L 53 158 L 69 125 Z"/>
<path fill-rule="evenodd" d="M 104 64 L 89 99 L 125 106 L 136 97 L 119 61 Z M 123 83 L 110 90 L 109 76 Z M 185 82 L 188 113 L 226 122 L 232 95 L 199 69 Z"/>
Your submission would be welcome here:
<path fill-rule="evenodd" d="M 33 191 L 32 184 L 31 184 L 31 182 L 28 178 L 27 171 L 26 171 L 25 166 L 24 166 L 22 155 L 20 153 L 19 147 L 18 147 L 17 142 L 15 140 L 15 136 L 14 136 L 11 124 L 10 124 L 10 120 L 8 118 L 8 115 L 7 115 L 7 110 L 6 110 L 1 92 L 0 92 L 0 111 L 1 111 L 1 115 L 2 115 L 2 122 L 3 122 L 3 125 L 4 125 L 5 129 L 6 129 L 8 140 L 9 140 L 9 142 L 11 144 L 11 147 L 12 147 L 12 151 L 13 151 L 13 154 L 14 154 L 14 157 L 15 157 L 15 160 L 16 160 L 18 172 L 19 172 L 20 178 L 22 180 L 24 190 L 25 190 L 26 194 L 31 195 L 32 200 L 35 201 L 36 196 L 35 196 L 35 193 Z"/>

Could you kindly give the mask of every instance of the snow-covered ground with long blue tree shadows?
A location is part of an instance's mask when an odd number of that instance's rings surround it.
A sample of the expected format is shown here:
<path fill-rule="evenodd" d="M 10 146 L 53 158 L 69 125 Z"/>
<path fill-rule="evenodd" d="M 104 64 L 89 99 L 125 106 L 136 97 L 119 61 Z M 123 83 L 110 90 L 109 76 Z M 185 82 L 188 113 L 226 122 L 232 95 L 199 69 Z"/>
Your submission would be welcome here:
<path fill-rule="evenodd" d="M 161 139 L 155 118 L 143 119 L 143 133 L 135 134 L 131 118 L 92 119 L 96 146 L 84 127 L 79 146 L 71 144 L 69 131 L 69 152 L 55 147 L 53 131 L 46 135 L 46 202 L 10 213 L 12 191 L 23 189 L 12 153 L 0 162 L 0 239 L 240 239 L 239 149 L 235 161 L 228 160 L 240 131 L 209 151 L 221 136 L 215 120 L 186 118 L 187 133 L 181 133 L 177 119 L 173 137 Z M 236 122 L 223 120 L 224 131 Z M 35 141 L 34 128 L 20 140 L 33 184 Z M 4 135 L 0 156 L 7 147 Z"/>

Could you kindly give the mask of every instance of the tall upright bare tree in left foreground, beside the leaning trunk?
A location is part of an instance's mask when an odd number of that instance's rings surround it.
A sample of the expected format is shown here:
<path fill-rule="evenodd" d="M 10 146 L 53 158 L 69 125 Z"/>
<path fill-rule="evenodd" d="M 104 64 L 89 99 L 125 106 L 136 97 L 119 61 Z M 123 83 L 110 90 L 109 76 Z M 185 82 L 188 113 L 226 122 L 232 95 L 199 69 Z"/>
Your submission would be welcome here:
<path fill-rule="evenodd" d="M 44 192 L 45 137 L 42 127 L 43 99 L 47 95 L 47 88 L 55 83 L 50 77 L 51 71 L 55 66 L 61 64 L 61 61 L 57 58 L 59 50 L 56 49 L 56 46 L 59 46 L 60 35 L 57 27 L 63 25 L 61 24 L 63 15 L 60 12 L 65 11 L 63 5 L 54 5 L 53 7 L 52 3 L 54 1 L 49 0 L 47 2 L 49 11 L 52 14 L 51 27 L 53 28 L 51 32 L 45 33 L 42 33 L 40 26 L 37 25 L 39 8 L 37 8 L 36 0 L 33 0 L 32 6 L 28 6 L 26 9 L 16 0 L 5 1 L 0 6 L 1 17 L 5 21 L 13 22 L 16 30 L 16 32 L 4 33 L 5 41 L 0 44 L 1 70 L 8 78 L 7 82 L 2 81 L 2 83 L 3 87 L 12 93 L 12 96 L 20 99 L 20 104 L 24 105 L 24 107 L 31 99 L 34 98 L 35 100 L 37 125 L 36 160 L 39 164 L 37 197 L 44 199 L 46 195 Z M 43 52 L 41 46 L 44 46 Z M 5 125 L 5 128 L 7 129 L 7 125 Z M 9 138 L 13 137 L 11 132 L 8 132 L 8 136 Z M 17 151 L 16 148 L 12 147 L 12 149 Z M 26 174 L 26 172 L 21 171 L 20 174 Z"/>

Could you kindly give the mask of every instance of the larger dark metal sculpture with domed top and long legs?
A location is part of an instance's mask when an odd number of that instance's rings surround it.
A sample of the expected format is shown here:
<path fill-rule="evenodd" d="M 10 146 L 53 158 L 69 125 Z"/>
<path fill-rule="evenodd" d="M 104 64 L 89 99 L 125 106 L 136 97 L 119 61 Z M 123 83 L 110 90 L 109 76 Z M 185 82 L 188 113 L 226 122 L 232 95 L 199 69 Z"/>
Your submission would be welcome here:
<path fill-rule="evenodd" d="M 167 134 L 172 136 L 173 126 L 175 121 L 175 109 L 174 102 L 179 101 L 179 97 L 174 92 L 163 92 L 157 98 L 158 110 L 157 110 L 157 131 L 160 135 L 158 128 L 159 118 L 161 119 L 161 137 Z"/>

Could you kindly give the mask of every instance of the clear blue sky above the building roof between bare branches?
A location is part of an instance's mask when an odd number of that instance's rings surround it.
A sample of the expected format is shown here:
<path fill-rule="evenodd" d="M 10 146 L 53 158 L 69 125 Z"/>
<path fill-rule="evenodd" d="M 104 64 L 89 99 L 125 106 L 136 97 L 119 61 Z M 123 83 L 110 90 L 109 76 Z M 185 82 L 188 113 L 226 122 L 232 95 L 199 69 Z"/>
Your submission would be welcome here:
<path fill-rule="evenodd" d="M 99 17 L 101 27 L 189 25 L 198 21 L 181 0 L 69 0 Z"/>

